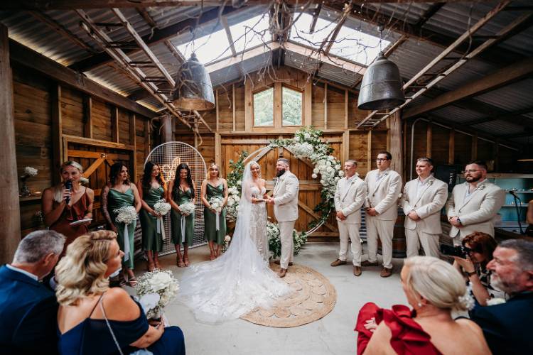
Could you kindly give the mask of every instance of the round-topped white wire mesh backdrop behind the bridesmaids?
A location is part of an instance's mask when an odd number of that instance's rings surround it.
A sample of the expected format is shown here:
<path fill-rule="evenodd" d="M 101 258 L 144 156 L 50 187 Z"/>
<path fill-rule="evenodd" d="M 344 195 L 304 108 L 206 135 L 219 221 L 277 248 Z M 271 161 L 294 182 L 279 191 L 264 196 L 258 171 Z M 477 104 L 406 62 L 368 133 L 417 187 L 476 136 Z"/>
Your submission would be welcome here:
<path fill-rule="evenodd" d="M 183 142 L 167 142 L 159 146 L 156 146 L 146 160 L 144 165 L 151 161 L 152 163 L 157 163 L 163 172 L 163 176 L 168 184 L 175 178 L 176 168 L 181 163 L 189 165 L 190 174 L 193 177 L 194 182 L 196 183 L 196 201 L 195 201 L 195 214 L 194 214 L 194 238 L 193 245 L 200 246 L 207 244 L 204 239 L 204 223 L 203 223 L 203 204 L 200 200 L 200 186 L 202 185 L 205 176 L 207 175 L 207 168 L 205 166 L 205 161 L 203 160 L 202 155 L 197 151 L 193 146 L 188 145 Z M 165 217 L 163 217 L 163 222 L 165 224 L 165 234 L 166 239 L 163 241 L 163 251 L 159 255 L 166 255 L 170 253 L 176 253 L 174 245 L 171 241 L 171 213 L 168 212 Z"/>

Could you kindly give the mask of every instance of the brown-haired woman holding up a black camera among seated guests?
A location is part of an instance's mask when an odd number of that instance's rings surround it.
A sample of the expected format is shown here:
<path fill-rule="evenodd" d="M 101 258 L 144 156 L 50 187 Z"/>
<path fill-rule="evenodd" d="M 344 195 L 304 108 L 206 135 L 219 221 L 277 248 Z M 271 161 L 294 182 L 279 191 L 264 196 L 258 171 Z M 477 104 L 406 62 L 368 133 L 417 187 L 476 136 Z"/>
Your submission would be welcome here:
<path fill-rule="evenodd" d="M 490 270 L 487 264 L 492 260 L 492 253 L 497 243 L 492 236 L 475 231 L 462 241 L 465 258 L 453 256 L 455 266 L 463 273 L 472 287 L 472 293 L 478 304 L 485 306 L 490 298 L 505 298 L 505 293 L 490 283 Z"/>

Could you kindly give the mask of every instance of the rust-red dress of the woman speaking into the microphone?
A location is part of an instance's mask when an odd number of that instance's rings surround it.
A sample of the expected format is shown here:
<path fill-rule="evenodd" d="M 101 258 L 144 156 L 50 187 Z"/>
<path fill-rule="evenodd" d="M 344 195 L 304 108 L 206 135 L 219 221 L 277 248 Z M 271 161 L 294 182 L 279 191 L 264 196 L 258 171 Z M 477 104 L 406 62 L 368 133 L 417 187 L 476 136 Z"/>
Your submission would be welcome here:
<path fill-rule="evenodd" d="M 53 208 L 55 209 L 58 207 L 58 204 L 58 202 L 54 201 Z M 75 204 L 72 204 L 72 206 L 65 206 L 65 209 L 63 209 L 63 213 L 60 215 L 58 220 L 50 226 L 50 229 L 63 234 L 67 238 L 61 256 L 65 255 L 68 244 L 72 243 L 72 241 L 74 241 L 74 239 L 76 239 L 78 236 L 82 236 L 83 234 L 87 234 L 89 232 L 87 226 L 70 226 L 70 223 L 83 219 L 85 214 L 88 212 L 87 207 L 89 207 L 90 204 L 91 201 L 87 195 L 87 187 L 85 187 L 85 193 L 82 195 L 82 197 L 80 197 L 80 200 L 77 200 Z"/>

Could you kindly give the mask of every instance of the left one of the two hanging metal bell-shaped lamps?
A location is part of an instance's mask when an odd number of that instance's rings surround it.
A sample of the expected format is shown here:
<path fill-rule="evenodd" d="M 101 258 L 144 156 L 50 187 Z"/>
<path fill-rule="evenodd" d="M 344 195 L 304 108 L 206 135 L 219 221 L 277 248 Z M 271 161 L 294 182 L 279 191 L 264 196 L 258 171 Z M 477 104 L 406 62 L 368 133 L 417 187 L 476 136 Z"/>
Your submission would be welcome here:
<path fill-rule="evenodd" d="M 205 111 L 215 108 L 211 78 L 195 53 L 190 55 L 178 71 L 172 102 L 182 110 Z"/>

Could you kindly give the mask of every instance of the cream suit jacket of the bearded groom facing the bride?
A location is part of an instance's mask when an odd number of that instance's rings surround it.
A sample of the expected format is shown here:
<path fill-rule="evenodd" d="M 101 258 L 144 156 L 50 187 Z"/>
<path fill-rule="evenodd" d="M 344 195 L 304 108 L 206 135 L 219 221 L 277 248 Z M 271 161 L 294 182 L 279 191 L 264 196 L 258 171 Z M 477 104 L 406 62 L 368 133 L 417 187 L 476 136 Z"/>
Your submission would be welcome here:
<path fill-rule="evenodd" d="M 278 222 L 298 219 L 298 189 L 300 183 L 296 175 L 287 171 L 281 175 L 274 187 L 274 216 Z"/>

